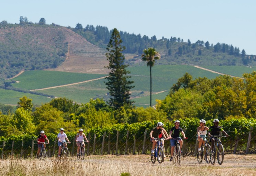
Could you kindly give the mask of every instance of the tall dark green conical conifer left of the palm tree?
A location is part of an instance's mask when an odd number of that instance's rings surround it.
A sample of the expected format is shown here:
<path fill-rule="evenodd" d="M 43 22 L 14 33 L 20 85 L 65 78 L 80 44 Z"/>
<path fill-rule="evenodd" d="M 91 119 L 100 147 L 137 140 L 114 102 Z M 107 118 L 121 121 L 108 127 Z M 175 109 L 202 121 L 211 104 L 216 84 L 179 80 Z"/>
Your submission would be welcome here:
<path fill-rule="evenodd" d="M 109 65 L 105 68 L 110 69 L 110 72 L 109 76 L 105 78 L 108 81 L 105 84 L 111 95 L 109 104 L 115 109 L 124 106 L 124 104 L 131 105 L 133 103 L 130 100 L 130 89 L 134 87 L 131 85 L 134 81 L 129 80 L 131 76 L 126 76 L 130 71 L 126 70 L 128 65 L 124 64 L 125 58 L 122 52 L 125 47 L 121 46 L 121 43 L 119 31 L 114 28 L 106 53 Z"/>

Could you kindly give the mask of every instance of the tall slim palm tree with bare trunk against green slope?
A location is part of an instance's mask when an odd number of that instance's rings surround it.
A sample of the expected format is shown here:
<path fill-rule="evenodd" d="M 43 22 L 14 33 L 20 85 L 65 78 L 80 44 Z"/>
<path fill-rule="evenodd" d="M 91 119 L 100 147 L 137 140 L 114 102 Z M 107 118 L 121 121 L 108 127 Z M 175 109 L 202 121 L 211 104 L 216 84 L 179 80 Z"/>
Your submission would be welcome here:
<path fill-rule="evenodd" d="M 155 48 L 148 48 L 143 50 L 142 60 L 147 62 L 150 70 L 150 107 L 152 107 L 152 76 L 151 76 L 151 67 L 154 66 L 155 60 L 160 59 L 161 55 L 156 51 Z"/>

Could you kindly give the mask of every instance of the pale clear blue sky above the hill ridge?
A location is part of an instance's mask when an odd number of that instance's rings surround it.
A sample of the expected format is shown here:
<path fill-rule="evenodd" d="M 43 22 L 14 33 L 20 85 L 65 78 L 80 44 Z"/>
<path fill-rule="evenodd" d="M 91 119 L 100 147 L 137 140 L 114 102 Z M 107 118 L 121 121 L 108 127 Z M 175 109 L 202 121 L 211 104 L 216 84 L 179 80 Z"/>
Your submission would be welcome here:
<path fill-rule="evenodd" d="M 1 2 L 0 22 L 75 27 L 106 26 L 152 37 L 180 37 L 232 44 L 256 55 L 256 1 L 238 0 L 9 0 Z"/>

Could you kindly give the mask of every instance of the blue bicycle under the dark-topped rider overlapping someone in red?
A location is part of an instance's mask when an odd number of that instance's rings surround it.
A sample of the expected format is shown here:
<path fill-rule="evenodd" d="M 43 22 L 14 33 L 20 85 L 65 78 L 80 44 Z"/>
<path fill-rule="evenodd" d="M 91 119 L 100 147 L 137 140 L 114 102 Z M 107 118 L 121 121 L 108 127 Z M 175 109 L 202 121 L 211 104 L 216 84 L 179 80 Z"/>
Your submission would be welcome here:
<path fill-rule="evenodd" d="M 157 144 L 154 148 L 154 153 L 151 153 L 151 161 L 152 163 L 156 162 L 156 158 L 158 163 L 162 163 L 164 162 L 164 148 L 162 146 L 162 140 L 165 140 L 163 138 L 158 139 L 158 138 L 154 138 L 154 140 L 156 140 Z"/>

